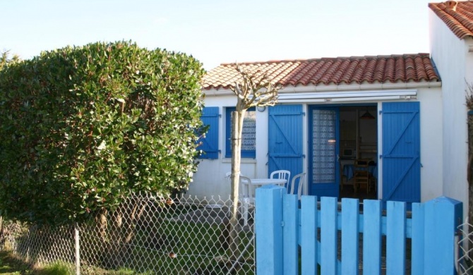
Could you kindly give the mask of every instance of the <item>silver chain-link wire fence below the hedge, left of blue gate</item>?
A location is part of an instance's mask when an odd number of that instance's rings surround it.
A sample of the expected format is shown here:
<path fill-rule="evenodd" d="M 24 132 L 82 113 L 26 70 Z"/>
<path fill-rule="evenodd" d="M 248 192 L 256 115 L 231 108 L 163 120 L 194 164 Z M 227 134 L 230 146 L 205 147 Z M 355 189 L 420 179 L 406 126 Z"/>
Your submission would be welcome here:
<path fill-rule="evenodd" d="M 31 267 L 59 263 L 70 274 L 255 274 L 254 208 L 230 226 L 231 206 L 231 200 L 135 195 L 85 224 L 4 221 L 1 247 Z"/>

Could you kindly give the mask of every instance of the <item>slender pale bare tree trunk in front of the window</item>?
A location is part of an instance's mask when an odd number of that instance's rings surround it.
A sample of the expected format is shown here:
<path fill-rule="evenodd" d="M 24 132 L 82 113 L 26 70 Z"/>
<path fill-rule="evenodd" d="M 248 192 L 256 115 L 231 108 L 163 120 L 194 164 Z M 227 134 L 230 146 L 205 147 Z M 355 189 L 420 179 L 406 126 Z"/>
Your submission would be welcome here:
<path fill-rule="evenodd" d="M 241 130 L 243 128 L 244 111 L 232 112 L 232 216 L 229 229 L 229 258 L 236 259 L 238 253 L 238 201 L 241 160 Z"/>

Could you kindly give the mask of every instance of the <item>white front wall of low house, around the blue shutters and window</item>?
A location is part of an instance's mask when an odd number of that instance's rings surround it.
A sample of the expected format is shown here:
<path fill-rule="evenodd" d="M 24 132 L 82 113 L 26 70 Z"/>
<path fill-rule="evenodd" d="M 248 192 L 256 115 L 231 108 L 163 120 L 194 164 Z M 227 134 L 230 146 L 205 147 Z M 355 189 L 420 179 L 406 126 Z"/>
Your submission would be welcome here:
<path fill-rule="evenodd" d="M 322 94 L 318 92 L 318 94 Z M 417 89 L 417 100 L 421 102 L 421 200 L 426 201 L 442 195 L 442 97 L 440 87 L 423 87 Z M 338 102 L 344 104 L 354 102 Z M 382 101 L 357 102 L 358 104 L 378 103 L 378 109 L 382 109 Z M 229 198 L 230 186 L 224 179 L 225 173 L 231 171 L 231 160 L 224 158 L 224 107 L 235 106 L 236 98 L 232 94 L 224 96 L 209 95 L 205 97 L 205 106 L 219 106 L 220 114 L 220 144 L 219 159 L 201 160 L 198 171 L 194 174 L 193 183 L 189 186 L 188 194 L 198 197 L 220 196 L 222 199 Z M 307 114 L 308 104 L 304 101 L 293 102 L 292 104 L 302 104 L 303 111 Z M 315 103 L 313 103 L 315 104 Z M 325 104 L 324 104 L 325 105 Z M 378 117 L 378 137 L 382 137 L 381 117 Z M 307 115 L 303 118 L 303 154 L 309 156 L 307 152 Z M 241 173 L 250 178 L 264 178 L 268 176 L 268 109 L 264 112 L 256 111 L 256 159 L 241 159 Z M 381 140 L 378 140 L 378 152 L 381 151 Z M 307 157 L 304 158 L 303 170 L 307 172 Z M 382 159 L 378 161 L 379 171 L 382 171 Z M 381 176 L 381 175 L 380 175 Z M 382 185 L 381 177 L 379 185 Z M 382 188 L 378 188 L 378 193 L 382 194 Z"/>

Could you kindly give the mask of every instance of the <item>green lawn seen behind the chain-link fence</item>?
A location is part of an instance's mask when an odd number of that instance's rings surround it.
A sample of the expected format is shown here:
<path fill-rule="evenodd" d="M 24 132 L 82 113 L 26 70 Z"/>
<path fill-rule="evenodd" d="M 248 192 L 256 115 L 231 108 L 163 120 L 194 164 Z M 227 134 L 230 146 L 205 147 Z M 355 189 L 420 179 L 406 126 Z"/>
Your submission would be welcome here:
<path fill-rule="evenodd" d="M 124 268 L 121 274 L 127 274 L 127 269 L 138 274 L 157 270 L 162 274 L 226 274 L 228 245 L 224 242 L 228 233 L 222 232 L 225 228 L 222 216 L 225 218 L 226 212 L 220 216 L 213 213 L 217 216 L 215 220 L 208 214 L 200 214 L 210 211 L 200 205 L 181 203 L 160 208 L 160 211 L 150 209 L 151 214 L 138 221 L 133 240 L 126 245 L 127 259 L 121 265 Z M 84 232 L 88 233 L 81 235 L 81 250 L 107 246 L 107 242 L 90 233 L 93 231 Z M 236 264 L 239 274 L 246 274 L 254 267 L 253 245 L 246 247 L 252 237 L 251 231 L 239 231 L 241 243 L 236 256 L 243 254 Z M 108 274 L 95 267 L 107 268 L 109 258 L 107 252 L 98 249 L 81 255 L 90 274 Z"/>

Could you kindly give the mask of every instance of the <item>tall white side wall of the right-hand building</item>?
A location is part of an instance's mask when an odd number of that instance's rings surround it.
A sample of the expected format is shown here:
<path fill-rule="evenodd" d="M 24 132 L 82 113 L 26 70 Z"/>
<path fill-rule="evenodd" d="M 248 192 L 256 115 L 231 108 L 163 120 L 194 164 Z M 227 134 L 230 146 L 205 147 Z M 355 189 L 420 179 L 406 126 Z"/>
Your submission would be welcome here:
<path fill-rule="evenodd" d="M 465 81 L 471 83 L 472 53 L 438 18 L 430 13 L 431 57 L 442 80 L 443 92 L 443 195 L 464 202 L 468 209 L 467 189 L 467 107 Z M 465 212 L 466 213 L 466 212 Z"/>

